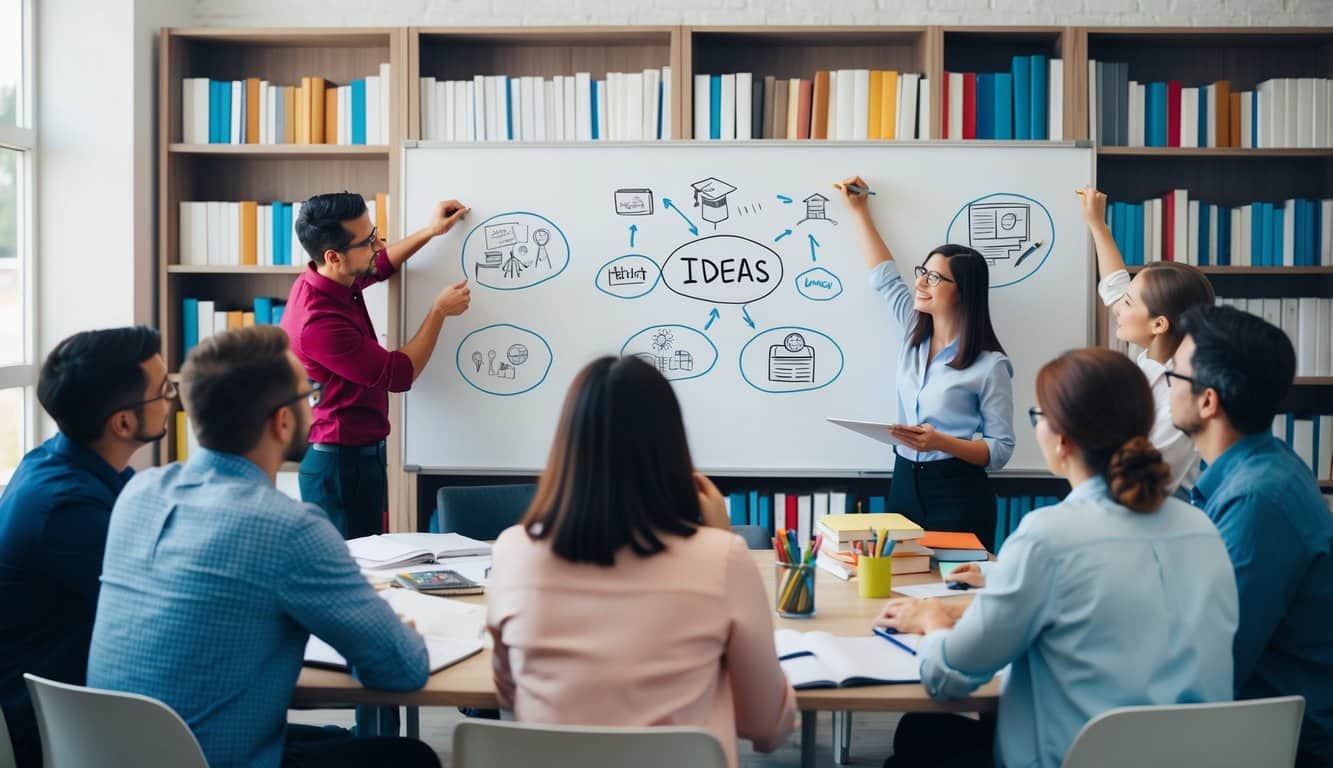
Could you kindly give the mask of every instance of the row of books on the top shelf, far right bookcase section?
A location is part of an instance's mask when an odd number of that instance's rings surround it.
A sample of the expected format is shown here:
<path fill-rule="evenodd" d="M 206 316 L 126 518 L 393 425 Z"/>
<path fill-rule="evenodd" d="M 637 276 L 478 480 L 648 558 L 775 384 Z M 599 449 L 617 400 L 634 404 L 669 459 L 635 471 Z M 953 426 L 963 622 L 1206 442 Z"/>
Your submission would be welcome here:
<path fill-rule="evenodd" d="M 1129 65 L 1088 63 L 1093 140 L 1118 147 L 1333 147 L 1333 80 L 1277 77 L 1254 91 L 1230 80 L 1140 83 Z"/>

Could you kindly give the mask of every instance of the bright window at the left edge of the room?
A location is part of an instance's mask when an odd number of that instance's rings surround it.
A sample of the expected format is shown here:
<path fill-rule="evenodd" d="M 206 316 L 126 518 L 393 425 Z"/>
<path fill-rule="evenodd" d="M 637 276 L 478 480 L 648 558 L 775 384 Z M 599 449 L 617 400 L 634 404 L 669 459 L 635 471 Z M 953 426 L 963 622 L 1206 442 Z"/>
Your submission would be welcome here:
<path fill-rule="evenodd" d="M 35 439 L 32 3 L 0 0 L 0 485 Z"/>

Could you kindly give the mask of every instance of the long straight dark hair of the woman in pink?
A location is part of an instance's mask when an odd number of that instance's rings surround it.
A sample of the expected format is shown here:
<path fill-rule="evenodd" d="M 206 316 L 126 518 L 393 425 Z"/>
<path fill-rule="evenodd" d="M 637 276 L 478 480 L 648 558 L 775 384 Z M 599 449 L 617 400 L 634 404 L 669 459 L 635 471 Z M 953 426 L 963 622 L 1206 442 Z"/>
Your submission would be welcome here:
<path fill-rule="evenodd" d="M 521 525 L 571 563 L 612 565 L 690 536 L 701 509 L 680 404 L 657 368 L 599 357 L 575 377 L 537 495 Z"/>

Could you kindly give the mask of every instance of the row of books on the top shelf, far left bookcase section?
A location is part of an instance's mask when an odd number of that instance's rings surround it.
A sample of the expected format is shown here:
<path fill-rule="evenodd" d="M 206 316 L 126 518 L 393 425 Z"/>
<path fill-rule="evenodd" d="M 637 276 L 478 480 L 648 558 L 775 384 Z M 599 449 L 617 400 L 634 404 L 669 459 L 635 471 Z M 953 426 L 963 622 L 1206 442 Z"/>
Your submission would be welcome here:
<path fill-rule="evenodd" d="M 389 65 L 335 85 L 301 77 L 277 85 L 259 77 L 181 81 L 181 140 L 187 144 L 388 144 Z"/>

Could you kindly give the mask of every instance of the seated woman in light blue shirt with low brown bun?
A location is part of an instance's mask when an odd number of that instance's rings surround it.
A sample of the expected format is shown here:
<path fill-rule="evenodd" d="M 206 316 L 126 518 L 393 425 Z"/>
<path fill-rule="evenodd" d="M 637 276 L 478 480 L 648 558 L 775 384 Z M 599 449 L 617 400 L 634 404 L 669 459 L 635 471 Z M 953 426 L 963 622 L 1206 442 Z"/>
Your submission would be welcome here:
<path fill-rule="evenodd" d="M 908 715 L 886 765 L 1058 768 L 1108 709 L 1232 697 L 1236 579 L 1208 516 L 1166 496 L 1148 380 L 1124 355 L 1076 349 L 1037 373 L 1037 404 L 1041 453 L 1073 491 L 1025 516 L 996 561 L 953 571 L 984 587 L 970 605 L 890 600 L 876 621 L 925 635 L 934 699 L 1012 665 L 998 715 Z"/>

